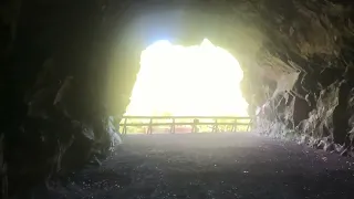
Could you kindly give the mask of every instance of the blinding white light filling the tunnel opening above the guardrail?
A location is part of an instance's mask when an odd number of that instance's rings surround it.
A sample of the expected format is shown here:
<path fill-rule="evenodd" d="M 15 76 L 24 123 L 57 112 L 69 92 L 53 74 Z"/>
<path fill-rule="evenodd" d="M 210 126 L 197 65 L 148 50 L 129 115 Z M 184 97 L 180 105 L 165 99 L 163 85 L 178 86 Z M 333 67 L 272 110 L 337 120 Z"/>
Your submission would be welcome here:
<path fill-rule="evenodd" d="M 194 46 L 158 41 L 142 52 L 125 115 L 247 116 L 242 77 L 239 62 L 207 39 Z"/>

